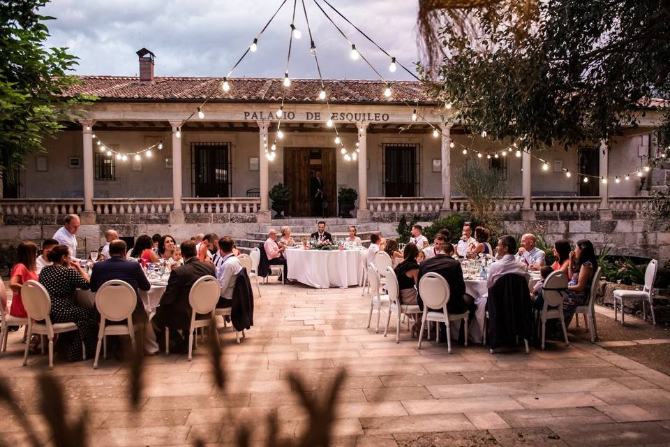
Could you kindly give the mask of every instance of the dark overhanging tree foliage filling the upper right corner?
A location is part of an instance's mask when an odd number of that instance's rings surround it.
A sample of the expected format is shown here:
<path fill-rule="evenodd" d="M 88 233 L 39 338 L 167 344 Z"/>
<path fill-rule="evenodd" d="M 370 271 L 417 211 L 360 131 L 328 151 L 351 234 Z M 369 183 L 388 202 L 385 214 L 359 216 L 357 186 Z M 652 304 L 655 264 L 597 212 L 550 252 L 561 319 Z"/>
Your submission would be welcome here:
<path fill-rule="evenodd" d="M 429 53 L 438 43 L 442 54 L 419 69 L 473 132 L 567 148 L 609 140 L 657 105 L 651 98 L 670 98 L 670 0 L 419 6 Z"/>

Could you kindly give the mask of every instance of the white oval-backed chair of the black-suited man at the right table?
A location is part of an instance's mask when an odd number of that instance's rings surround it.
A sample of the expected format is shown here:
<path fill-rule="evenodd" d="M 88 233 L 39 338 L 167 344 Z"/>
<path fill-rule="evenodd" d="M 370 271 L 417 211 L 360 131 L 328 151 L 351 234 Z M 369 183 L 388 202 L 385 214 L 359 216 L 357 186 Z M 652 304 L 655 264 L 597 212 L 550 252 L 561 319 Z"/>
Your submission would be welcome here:
<path fill-rule="evenodd" d="M 465 345 L 468 346 L 468 318 L 470 318 L 470 311 L 467 311 L 464 314 L 449 315 L 449 312 L 447 312 L 447 303 L 449 302 L 451 291 L 449 290 L 447 280 L 435 272 L 426 273 L 421 281 L 419 281 L 419 294 L 424 302 L 424 314 L 421 319 L 421 332 L 419 332 L 419 344 L 417 345 L 417 349 L 421 349 L 421 341 L 424 335 L 426 321 L 428 321 L 429 324 L 431 321 L 435 321 L 435 323 L 445 323 L 445 325 L 447 325 L 447 353 L 450 354 L 452 353 L 452 336 L 449 322 L 460 322 L 462 320 L 465 325 Z M 431 311 L 429 308 L 442 309 L 442 312 Z M 436 339 L 439 342 L 440 330 L 435 330 L 435 332 L 437 332 Z"/>

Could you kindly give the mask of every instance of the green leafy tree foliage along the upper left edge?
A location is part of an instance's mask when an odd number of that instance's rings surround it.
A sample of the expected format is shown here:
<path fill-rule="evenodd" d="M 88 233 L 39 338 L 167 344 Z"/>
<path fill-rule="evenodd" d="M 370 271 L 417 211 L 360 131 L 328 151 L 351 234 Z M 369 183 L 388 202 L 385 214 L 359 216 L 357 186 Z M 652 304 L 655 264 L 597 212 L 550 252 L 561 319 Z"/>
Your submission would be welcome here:
<path fill-rule="evenodd" d="M 67 48 L 46 48 L 53 17 L 40 15 L 46 0 L 0 1 L 0 173 L 10 179 L 27 154 L 43 151 L 43 139 L 63 129 L 90 97 L 66 98 L 77 82 Z"/>

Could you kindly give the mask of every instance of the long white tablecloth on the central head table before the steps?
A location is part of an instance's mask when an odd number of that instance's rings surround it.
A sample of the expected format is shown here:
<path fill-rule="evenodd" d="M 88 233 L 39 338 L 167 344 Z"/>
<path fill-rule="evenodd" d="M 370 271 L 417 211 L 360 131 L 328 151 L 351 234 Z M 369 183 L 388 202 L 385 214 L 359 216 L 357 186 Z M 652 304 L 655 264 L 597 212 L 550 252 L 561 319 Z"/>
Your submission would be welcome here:
<path fill-rule="evenodd" d="M 315 288 L 357 286 L 363 281 L 364 250 L 285 251 L 288 277 Z"/>

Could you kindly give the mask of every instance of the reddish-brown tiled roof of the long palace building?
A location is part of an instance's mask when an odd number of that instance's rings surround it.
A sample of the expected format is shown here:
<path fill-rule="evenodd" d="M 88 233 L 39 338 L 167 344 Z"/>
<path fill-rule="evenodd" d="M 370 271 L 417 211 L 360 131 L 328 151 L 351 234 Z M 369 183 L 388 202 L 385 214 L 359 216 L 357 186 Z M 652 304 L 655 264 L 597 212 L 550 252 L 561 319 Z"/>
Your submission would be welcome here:
<path fill-rule="evenodd" d="M 292 79 L 290 87 L 283 79 L 231 78 L 230 90 L 221 89 L 222 78 L 156 77 L 154 82 L 142 84 L 133 76 L 79 76 L 80 85 L 70 87 L 65 96 L 95 95 L 102 101 L 202 101 L 212 94 L 210 101 L 258 102 L 285 101 L 315 102 L 321 84 L 318 79 Z M 408 103 L 434 104 L 421 82 L 390 81 L 392 95 L 384 96 L 386 84 L 374 80 L 324 80 L 329 101 L 334 103 Z"/>

